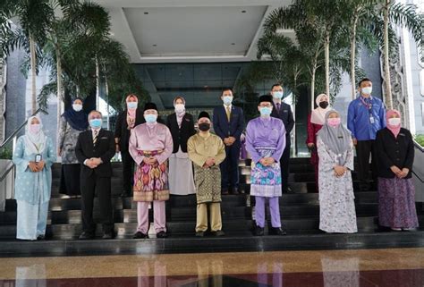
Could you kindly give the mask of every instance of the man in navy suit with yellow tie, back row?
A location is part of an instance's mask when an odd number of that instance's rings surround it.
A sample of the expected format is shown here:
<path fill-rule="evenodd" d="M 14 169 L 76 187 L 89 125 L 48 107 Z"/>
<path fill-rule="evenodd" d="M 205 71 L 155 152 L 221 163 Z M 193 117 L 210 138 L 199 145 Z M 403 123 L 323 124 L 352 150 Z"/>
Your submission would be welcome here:
<path fill-rule="evenodd" d="M 223 139 L 225 144 L 225 160 L 220 165 L 221 168 L 221 189 L 223 194 L 228 194 L 232 190 L 233 194 L 238 194 L 239 188 L 239 157 L 240 157 L 240 136 L 244 129 L 244 116 L 241 107 L 233 106 L 233 91 L 223 90 L 221 99 L 223 106 L 214 109 L 214 131 L 218 137 Z"/>

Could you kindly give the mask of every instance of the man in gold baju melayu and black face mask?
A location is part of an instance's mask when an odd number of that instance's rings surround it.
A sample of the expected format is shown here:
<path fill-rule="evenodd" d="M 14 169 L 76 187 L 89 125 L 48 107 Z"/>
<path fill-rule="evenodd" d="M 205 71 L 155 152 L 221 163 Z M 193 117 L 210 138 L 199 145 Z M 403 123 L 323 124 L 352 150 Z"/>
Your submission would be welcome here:
<path fill-rule="evenodd" d="M 210 117 L 207 112 L 199 114 L 198 124 L 199 133 L 187 142 L 189 158 L 194 165 L 197 190 L 196 236 L 203 237 L 208 230 L 208 206 L 210 230 L 215 236 L 223 236 L 219 164 L 225 159 L 225 146 L 222 139 L 209 132 Z"/>

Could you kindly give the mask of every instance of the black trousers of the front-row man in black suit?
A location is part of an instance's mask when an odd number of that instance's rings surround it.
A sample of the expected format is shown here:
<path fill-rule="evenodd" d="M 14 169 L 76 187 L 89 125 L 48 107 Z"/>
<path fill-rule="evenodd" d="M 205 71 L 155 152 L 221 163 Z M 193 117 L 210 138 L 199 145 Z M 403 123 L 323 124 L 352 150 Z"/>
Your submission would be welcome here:
<path fill-rule="evenodd" d="M 103 232 L 114 232 L 114 218 L 110 194 L 110 177 L 98 177 L 96 173 L 91 173 L 89 176 L 83 176 L 81 174 L 82 230 L 84 232 L 96 232 L 96 224 L 93 220 L 95 195 L 98 196 L 100 224 L 103 224 Z"/>

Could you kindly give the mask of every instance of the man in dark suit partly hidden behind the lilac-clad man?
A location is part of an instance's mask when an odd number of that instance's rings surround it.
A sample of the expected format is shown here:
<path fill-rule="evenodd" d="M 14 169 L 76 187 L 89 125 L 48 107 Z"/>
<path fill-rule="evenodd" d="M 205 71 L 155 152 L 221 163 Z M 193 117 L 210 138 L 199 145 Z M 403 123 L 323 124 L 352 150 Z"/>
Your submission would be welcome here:
<path fill-rule="evenodd" d="M 273 97 L 273 109 L 271 116 L 281 119 L 285 127 L 285 148 L 283 156 L 280 158 L 281 165 L 281 186 L 283 192 L 289 192 L 289 161 L 290 161 L 290 132 L 293 130 L 294 118 L 290 105 L 282 101 L 284 90 L 281 84 L 275 84 L 271 88 Z"/>

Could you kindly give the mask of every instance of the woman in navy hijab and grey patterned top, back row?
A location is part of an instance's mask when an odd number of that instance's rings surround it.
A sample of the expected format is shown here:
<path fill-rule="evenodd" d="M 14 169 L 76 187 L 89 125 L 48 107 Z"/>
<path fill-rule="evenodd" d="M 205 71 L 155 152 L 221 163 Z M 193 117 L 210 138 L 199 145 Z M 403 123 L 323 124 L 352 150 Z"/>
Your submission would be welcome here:
<path fill-rule="evenodd" d="M 75 156 L 75 146 L 81 131 L 86 131 L 88 127 L 87 114 L 82 111 L 82 99 L 77 97 L 73 101 L 72 107 L 62 114 L 57 152 L 59 156 L 62 156 L 60 193 L 70 197 L 81 195 L 81 165 Z"/>

